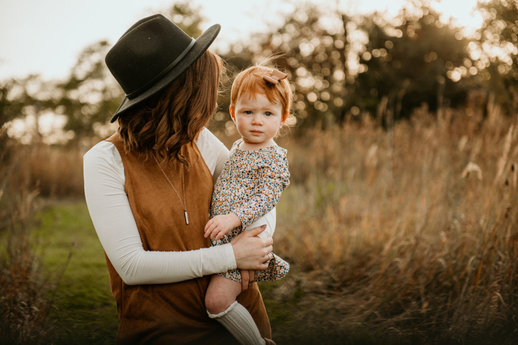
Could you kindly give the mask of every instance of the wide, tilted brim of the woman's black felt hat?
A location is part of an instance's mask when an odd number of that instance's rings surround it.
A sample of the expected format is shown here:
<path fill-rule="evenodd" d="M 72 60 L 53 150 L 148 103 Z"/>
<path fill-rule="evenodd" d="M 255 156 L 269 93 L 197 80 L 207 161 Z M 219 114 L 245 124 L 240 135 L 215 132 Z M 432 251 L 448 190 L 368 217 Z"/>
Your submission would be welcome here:
<path fill-rule="evenodd" d="M 196 38 L 196 42 L 194 43 L 191 50 L 180 60 L 180 62 L 175 67 L 167 72 L 164 77 L 162 77 L 153 86 L 151 86 L 140 95 L 131 99 L 125 97 L 119 108 L 115 113 L 113 113 L 113 116 L 110 119 L 110 123 L 115 122 L 119 116 L 124 115 L 124 112 L 131 109 L 141 101 L 156 94 L 161 89 L 169 85 L 172 81 L 177 79 L 180 74 L 191 67 L 196 62 L 196 60 L 209 48 L 210 44 L 212 44 L 216 36 L 218 36 L 220 29 L 221 25 L 219 24 L 215 24 L 209 27 L 203 34 Z"/>

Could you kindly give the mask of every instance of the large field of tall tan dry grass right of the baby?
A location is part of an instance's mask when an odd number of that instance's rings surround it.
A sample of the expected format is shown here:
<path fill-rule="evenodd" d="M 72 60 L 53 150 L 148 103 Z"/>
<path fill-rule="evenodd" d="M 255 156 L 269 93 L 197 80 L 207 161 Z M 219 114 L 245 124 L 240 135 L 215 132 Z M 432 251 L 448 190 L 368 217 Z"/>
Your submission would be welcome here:
<path fill-rule="evenodd" d="M 294 276 L 269 296 L 298 289 L 283 325 L 304 331 L 276 339 L 518 339 L 516 120 L 423 108 L 387 130 L 365 117 L 284 142 L 275 247 Z"/>

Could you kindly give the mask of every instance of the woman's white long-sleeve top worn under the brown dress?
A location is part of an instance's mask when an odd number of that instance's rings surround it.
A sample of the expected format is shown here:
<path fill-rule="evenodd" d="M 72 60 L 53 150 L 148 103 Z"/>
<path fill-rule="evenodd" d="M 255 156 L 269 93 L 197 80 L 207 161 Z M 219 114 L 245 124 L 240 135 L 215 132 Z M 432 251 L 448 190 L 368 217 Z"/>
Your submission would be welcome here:
<path fill-rule="evenodd" d="M 214 182 L 228 157 L 228 149 L 204 128 L 196 145 Z M 130 285 L 163 284 L 236 268 L 231 244 L 191 251 L 147 251 L 142 246 L 130 202 L 124 191 L 124 166 L 117 148 L 99 142 L 83 156 L 84 195 L 95 231 L 121 279 Z M 275 230 L 275 208 L 249 229 L 267 224 L 260 237 Z M 203 236 L 203 229 L 200 236 Z"/>

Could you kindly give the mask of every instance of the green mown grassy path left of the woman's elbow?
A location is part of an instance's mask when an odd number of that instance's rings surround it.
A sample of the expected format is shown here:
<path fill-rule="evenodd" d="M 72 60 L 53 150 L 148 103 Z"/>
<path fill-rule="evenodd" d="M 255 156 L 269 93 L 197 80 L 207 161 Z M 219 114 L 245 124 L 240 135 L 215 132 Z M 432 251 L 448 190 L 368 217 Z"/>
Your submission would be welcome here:
<path fill-rule="evenodd" d="M 57 344 L 113 344 L 119 324 L 104 251 L 84 202 L 55 203 L 40 213 L 35 232 L 49 280 L 63 272 L 51 338 Z"/>

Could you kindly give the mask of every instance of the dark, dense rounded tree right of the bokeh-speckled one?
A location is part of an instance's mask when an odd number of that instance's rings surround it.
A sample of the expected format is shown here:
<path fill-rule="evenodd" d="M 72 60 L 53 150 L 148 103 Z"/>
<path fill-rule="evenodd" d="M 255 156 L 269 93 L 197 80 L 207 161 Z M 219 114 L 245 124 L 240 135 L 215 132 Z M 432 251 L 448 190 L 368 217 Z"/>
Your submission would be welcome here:
<path fill-rule="evenodd" d="M 373 112 L 385 96 L 398 118 L 410 116 L 421 103 L 437 109 L 443 97 L 452 106 L 465 99 L 462 77 L 470 76 L 472 65 L 468 40 L 460 28 L 442 23 L 426 2 L 410 5 L 401 11 L 396 25 L 380 21 L 376 14 L 361 25 L 369 42 L 360 55 L 365 67 L 354 83 L 360 108 Z"/>

